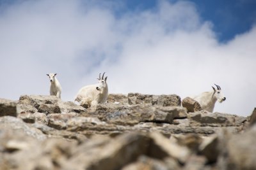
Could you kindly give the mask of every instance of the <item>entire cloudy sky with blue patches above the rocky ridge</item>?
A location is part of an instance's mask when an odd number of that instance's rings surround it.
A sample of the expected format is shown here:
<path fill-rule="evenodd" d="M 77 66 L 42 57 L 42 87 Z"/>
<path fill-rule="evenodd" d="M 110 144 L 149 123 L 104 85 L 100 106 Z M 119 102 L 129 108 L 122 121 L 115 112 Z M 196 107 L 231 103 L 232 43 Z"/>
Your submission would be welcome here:
<path fill-rule="evenodd" d="M 220 85 L 214 111 L 256 107 L 256 1 L 0 0 L 0 98 L 63 101 L 108 76 L 109 93 L 195 96 Z"/>

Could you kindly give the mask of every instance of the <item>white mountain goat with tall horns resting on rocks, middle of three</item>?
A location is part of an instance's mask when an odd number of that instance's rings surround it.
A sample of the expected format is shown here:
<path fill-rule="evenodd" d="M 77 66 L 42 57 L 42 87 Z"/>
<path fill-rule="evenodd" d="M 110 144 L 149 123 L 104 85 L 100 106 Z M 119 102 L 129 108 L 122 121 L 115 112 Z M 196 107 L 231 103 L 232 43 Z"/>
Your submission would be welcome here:
<path fill-rule="evenodd" d="M 88 107 L 96 106 L 98 103 L 106 103 L 108 99 L 108 76 L 104 79 L 104 74 L 105 72 L 101 78 L 99 74 L 99 78 L 97 78 L 99 83 L 82 87 L 78 91 L 75 101 Z"/>

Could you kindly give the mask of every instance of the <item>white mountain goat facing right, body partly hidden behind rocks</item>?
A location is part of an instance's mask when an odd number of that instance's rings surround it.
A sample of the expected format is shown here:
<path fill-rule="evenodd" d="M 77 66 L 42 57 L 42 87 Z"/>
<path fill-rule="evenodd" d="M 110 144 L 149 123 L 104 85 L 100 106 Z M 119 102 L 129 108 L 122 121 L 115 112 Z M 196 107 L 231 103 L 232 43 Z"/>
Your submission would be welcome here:
<path fill-rule="evenodd" d="M 226 97 L 224 97 L 221 92 L 220 86 L 216 85 L 216 87 L 217 87 L 217 90 L 214 87 L 212 87 L 213 90 L 211 92 L 203 92 L 202 94 L 196 97 L 193 97 L 193 99 L 200 104 L 203 110 L 212 112 L 217 100 L 220 103 L 226 100 Z"/>

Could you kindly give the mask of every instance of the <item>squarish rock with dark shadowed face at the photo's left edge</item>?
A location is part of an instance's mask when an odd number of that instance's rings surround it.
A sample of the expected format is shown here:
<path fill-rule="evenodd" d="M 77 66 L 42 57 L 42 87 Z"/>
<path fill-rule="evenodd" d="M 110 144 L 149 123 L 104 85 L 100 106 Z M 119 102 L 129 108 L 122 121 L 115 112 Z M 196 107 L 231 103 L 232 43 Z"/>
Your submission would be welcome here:
<path fill-rule="evenodd" d="M 0 117 L 17 117 L 17 103 L 7 99 L 0 99 Z"/>

